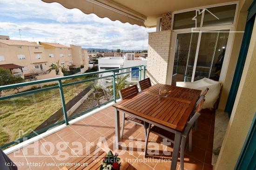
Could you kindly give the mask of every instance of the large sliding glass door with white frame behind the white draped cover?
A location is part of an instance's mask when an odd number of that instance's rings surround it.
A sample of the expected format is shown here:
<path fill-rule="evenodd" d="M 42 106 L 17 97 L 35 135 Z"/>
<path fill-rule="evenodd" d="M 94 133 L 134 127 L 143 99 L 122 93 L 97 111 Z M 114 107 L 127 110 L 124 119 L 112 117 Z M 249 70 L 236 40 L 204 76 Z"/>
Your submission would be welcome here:
<path fill-rule="evenodd" d="M 229 30 L 178 33 L 172 85 L 204 77 L 219 81 Z"/>

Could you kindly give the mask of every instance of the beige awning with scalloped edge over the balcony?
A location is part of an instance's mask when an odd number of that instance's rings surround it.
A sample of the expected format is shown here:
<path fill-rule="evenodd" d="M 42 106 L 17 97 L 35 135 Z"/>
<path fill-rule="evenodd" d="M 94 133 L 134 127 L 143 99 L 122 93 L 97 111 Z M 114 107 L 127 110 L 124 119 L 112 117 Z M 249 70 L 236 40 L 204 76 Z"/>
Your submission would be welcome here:
<path fill-rule="evenodd" d="M 109 18 L 112 21 L 119 20 L 122 23 L 145 26 L 146 16 L 131 9 L 121 6 L 109 0 L 42 0 L 47 3 L 57 2 L 62 6 L 73 9 L 80 9 L 83 13 L 94 13 L 100 18 Z"/>

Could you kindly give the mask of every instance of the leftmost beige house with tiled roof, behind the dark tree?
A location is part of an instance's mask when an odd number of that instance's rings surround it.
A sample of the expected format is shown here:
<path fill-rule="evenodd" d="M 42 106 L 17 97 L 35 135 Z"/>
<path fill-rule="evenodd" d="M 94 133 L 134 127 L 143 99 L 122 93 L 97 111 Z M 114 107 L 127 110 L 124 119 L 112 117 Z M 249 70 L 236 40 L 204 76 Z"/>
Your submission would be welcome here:
<path fill-rule="evenodd" d="M 23 74 L 31 76 L 48 69 L 44 46 L 28 41 L 0 39 L 0 65 L 16 64 L 22 66 Z M 12 73 L 22 72 L 12 69 Z"/>

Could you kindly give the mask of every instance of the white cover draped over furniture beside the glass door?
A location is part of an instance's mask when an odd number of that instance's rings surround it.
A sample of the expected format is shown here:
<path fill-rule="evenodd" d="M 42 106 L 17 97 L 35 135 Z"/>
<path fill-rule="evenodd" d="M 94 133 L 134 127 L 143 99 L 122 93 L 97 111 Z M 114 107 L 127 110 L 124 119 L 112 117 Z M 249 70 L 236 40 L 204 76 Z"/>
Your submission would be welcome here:
<path fill-rule="evenodd" d="M 194 88 L 198 90 L 205 90 L 205 88 L 209 88 L 208 93 L 205 95 L 205 102 L 203 103 L 203 109 L 214 108 L 214 104 L 219 98 L 220 90 L 221 90 L 221 82 L 216 82 L 209 78 L 203 78 L 201 80 L 195 82 L 176 82 L 176 86 L 183 88 Z"/>

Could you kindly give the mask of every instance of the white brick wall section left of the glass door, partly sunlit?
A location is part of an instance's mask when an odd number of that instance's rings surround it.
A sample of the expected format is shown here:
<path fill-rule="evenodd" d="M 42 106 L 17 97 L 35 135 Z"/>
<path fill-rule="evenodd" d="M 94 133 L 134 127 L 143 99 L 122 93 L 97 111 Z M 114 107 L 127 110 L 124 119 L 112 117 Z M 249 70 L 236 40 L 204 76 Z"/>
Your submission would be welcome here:
<path fill-rule="evenodd" d="M 171 31 L 148 33 L 147 76 L 153 84 L 166 83 Z"/>

